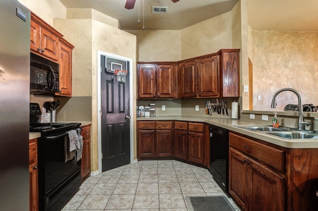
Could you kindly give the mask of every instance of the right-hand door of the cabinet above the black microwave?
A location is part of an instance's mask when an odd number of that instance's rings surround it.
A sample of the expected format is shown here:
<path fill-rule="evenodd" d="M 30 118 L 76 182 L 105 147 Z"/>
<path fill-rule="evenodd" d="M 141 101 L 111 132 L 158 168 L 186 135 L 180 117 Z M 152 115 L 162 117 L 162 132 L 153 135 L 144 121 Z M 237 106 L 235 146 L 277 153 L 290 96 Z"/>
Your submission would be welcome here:
<path fill-rule="evenodd" d="M 41 27 L 41 53 L 43 55 L 53 59 L 58 60 L 58 45 L 59 38 L 54 34 Z"/>

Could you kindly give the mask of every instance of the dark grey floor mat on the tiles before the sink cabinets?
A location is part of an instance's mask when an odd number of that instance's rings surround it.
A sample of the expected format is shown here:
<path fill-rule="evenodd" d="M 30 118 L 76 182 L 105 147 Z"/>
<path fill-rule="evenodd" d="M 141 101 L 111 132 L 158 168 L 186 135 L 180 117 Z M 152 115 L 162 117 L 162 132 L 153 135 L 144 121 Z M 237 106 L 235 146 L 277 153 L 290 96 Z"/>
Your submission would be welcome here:
<path fill-rule="evenodd" d="M 225 196 L 186 197 L 189 211 L 235 211 Z"/>

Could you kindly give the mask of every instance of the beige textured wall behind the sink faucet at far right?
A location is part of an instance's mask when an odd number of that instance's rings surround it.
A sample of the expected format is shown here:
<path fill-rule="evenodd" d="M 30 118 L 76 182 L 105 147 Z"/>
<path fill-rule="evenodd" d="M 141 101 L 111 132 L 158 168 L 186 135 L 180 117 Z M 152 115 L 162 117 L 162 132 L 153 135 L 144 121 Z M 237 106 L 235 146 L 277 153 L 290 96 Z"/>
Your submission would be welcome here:
<path fill-rule="evenodd" d="M 249 57 L 253 65 L 253 110 L 282 111 L 298 104 L 292 92 L 277 96 L 277 108 L 270 108 L 273 94 L 281 88 L 296 89 L 303 104 L 318 105 L 318 33 L 251 31 Z M 261 95 L 261 100 L 257 100 Z"/>

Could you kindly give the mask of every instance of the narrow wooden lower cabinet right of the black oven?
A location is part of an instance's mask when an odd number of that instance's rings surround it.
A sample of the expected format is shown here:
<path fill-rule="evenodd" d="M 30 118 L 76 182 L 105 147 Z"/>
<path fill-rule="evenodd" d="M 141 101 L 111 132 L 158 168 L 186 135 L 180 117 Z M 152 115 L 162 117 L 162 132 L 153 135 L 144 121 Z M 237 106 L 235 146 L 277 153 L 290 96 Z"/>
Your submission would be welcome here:
<path fill-rule="evenodd" d="M 84 179 L 90 176 L 90 125 L 82 127 L 83 151 L 81 156 L 80 177 Z"/>

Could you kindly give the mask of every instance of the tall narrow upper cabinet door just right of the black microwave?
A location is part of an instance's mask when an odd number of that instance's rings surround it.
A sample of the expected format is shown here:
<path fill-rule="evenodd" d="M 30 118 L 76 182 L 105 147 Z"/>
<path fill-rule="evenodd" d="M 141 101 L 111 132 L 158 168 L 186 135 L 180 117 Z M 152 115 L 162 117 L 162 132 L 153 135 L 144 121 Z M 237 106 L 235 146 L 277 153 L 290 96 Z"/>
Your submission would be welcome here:
<path fill-rule="evenodd" d="M 72 49 L 59 43 L 60 92 L 56 95 L 72 97 Z"/>

